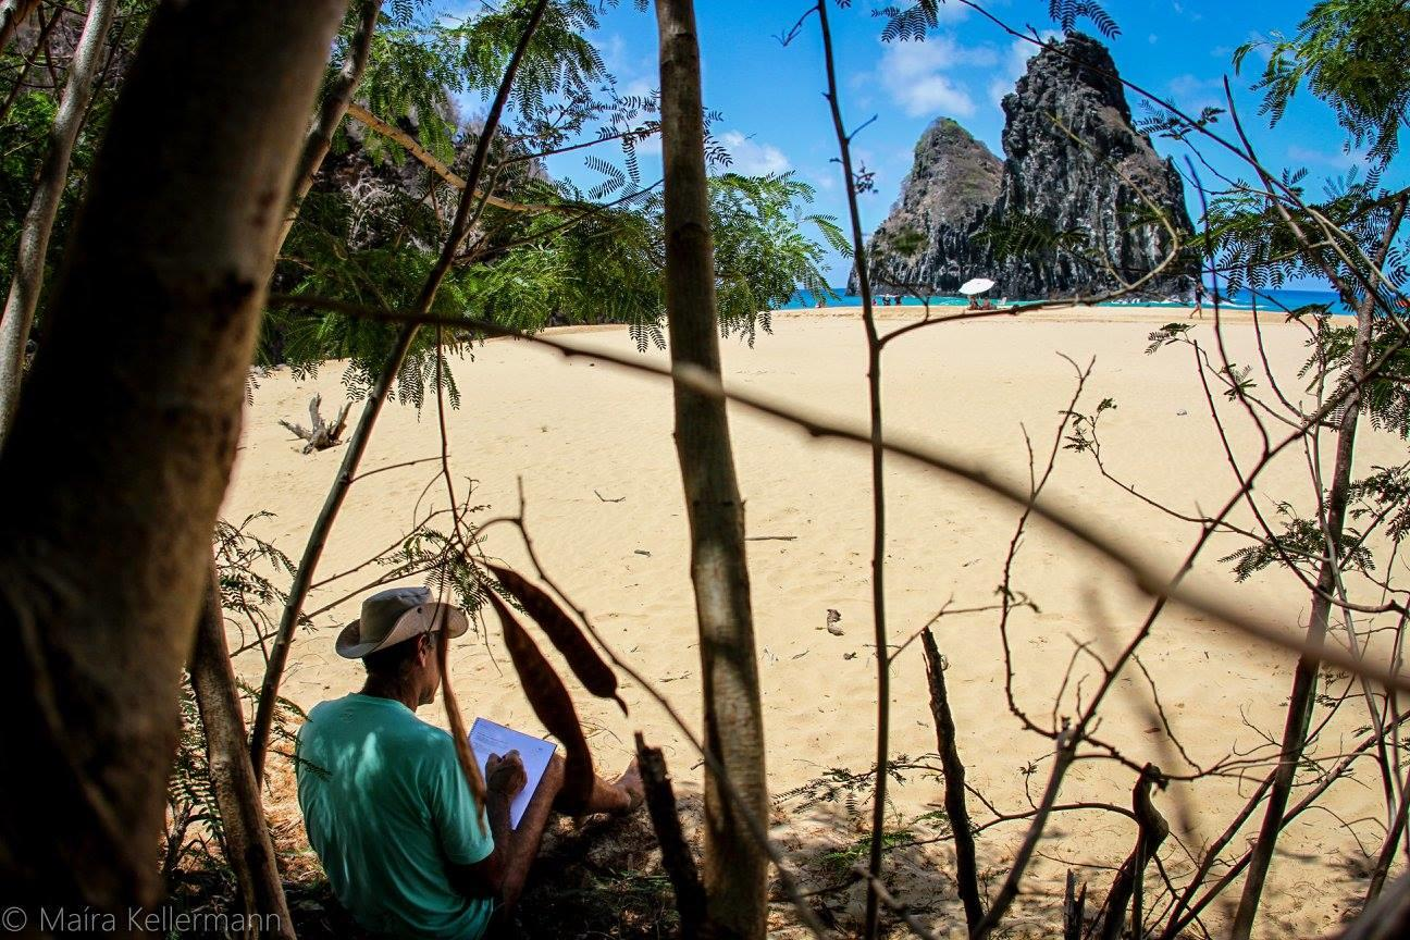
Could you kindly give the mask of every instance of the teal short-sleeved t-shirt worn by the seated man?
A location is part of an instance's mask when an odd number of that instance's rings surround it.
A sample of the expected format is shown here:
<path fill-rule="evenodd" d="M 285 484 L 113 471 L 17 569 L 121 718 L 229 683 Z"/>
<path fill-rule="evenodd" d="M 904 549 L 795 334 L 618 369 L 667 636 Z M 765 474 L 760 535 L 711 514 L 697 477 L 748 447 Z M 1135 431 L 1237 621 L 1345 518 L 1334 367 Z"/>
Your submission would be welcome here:
<path fill-rule="evenodd" d="M 447 862 L 495 848 L 451 736 L 392 699 L 348 695 L 299 730 L 299 809 L 338 901 L 392 936 L 479 937 L 491 898 L 451 888 Z"/>

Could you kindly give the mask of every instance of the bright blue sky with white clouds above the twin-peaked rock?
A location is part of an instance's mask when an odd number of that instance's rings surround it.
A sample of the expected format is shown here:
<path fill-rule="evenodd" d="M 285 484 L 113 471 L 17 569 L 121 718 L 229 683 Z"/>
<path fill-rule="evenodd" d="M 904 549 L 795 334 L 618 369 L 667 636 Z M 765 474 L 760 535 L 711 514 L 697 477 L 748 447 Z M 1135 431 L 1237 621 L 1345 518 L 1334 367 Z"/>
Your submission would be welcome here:
<path fill-rule="evenodd" d="M 1340 176 L 1358 163 L 1342 147 L 1344 134 L 1330 111 L 1300 94 L 1287 117 L 1269 128 L 1258 116 L 1259 97 L 1248 90 L 1262 61 L 1251 56 L 1245 73 L 1234 73 L 1234 49 L 1275 31 L 1294 32 L 1311 0 L 1105 0 L 1121 35 L 1108 41 L 1122 78 L 1165 96 L 1189 113 L 1222 106 L 1222 78 L 1234 82 L 1235 101 L 1265 163 L 1282 169 L 1304 166 L 1314 179 Z M 885 218 L 911 168 L 912 148 L 938 117 L 953 117 L 1003 156 L 1004 116 L 1000 99 L 1022 75 L 1036 47 L 1014 39 L 960 4 L 940 7 L 940 24 L 925 42 L 881 41 L 883 21 L 870 16 L 870 0 L 832 10 L 835 49 L 842 82 L 843 114 L 856 127 L 876 117 L 853 147 L 876 172 L 877 192 L 862 197 L 864 230 Z M 1050 32 L 1046 0 L 990 0 L 987 8 L 1017 28 Z M 735 169 L 746 173 L 792 171 L 818 190 L 816 207 L 845 221 L 842 173 L 832 162 L 836 145 L 823 90 L 822 48 L 816 20 L 809 18 L 788 47 L 785 32 L 808 7 L 805 0 L 697 0 L 704 63 L 705 103 L 722 113 L 715 135 L 729 148 Z M 1086 31 L 1094 32 L 1090 24 Z M 654 89 L 657 80 L 656 20 L 629 0 L 602 17 L 594 37 L 623 92 Z M 1132 110 L 1139 114 L 1134 93 Z M 1220 125 L 1230 130 L 1227 124 Z M 1180 145 L 1156 141 L 1163 155 L 1183 168 Z M 1217 148 L 1206 147 L 1222 172 L 1246 169 Z M 602 156 L 613 159 L 611 152 Z M 581 156 L 554 158 L 554 176 L 585 186 L 601 180 Z M 643 148 L 644 182 L 660 176 L 658 145 Z M 1207 180 L 1207 185 L 1213 180 Z M 1187 185 L 1194 216 L 1193 187 Z M 846 279 L 850 259 L 833 259 L 832 282 Z M 1307 285 L 1313 286 L 1313 285 Z"/>

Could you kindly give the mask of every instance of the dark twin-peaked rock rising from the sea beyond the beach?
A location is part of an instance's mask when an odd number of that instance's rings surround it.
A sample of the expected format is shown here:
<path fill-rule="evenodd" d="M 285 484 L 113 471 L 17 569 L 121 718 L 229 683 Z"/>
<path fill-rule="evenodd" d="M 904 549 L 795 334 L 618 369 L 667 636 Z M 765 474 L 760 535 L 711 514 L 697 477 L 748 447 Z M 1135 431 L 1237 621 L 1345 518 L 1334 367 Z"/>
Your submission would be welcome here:
<path fill-rule="evenodd" d="M 984 158 L 994 158 L 983 145 L 953 121 L 933 124 L 873 238 L 877 289 L 945 293 L 984 276 L 998 296 L 1093 296 L 1118 287 L 1112 269 L 1127 282 L 1153 271 L 1175 240 L 1148 202 L 1187 234 L 1184 187 L 1131 125 L 1114 75 L 1105 47 L 1081 34 L 1034 56 L 1004 99 L 1007 159 L 991 189 L 994 165 Z M 1060 247 L 1034 238 L 1041 231 L 1062 234 Z M 1026 247 L 1001 248 L 1014 233 L 1028 235 Z M 1196 275 L 1193 262 L 1172 262 L 1139 295 L 1184 296 Z"/>

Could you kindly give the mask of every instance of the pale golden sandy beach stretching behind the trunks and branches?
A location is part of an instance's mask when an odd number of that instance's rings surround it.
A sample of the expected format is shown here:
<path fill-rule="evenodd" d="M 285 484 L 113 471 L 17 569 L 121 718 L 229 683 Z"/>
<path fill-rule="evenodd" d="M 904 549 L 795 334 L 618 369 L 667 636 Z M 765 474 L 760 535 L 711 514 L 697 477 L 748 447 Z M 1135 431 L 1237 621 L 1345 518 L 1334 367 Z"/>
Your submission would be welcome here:
<path fill-rule="evenodd" d="M 904 317 L 914 319 L 916 310 L 878 313 L 883 327 L 891 330 L 902 326 Z M 1090 362 L 1091 375 L 1076 410 L 1091 413 L 1103 399 L 1115 402 L 1117 409 L 1101 419 L 1107 468 L 1176 510 L 1213 512 L 1235 490 L 1237 481 L 1211 421 L 1193 355 L 1184 347 L 1145 352 L 1148 334 L 1179 319 L 1179 310 L 1167 309 L 1077 309 L 918 330 L 885 352 L 887 433 L 924 440 L 1026 485 L 1025 430 L 1039 464 L 1046 462 L 1060 412 L 1076 389 L 1069 359 L 1083 368 Z M 1213 351 L 1213 320 L 1193 323 L 1197 326 L 1191 335 L 1211 344 Z M 636 354 L 620 327 L 554 335 L 585 350 Z M 1258 362 L 1253 337 L 1246 314 L 1224 319 L 1231 361 Z M 1263 337 L 1275 372 L 1289 379 L 1285 390 L 1300 392 L 1296 372 L 1306 358 L 1306 333 L 1275 320 L 1265 323 Z M 643 358 L 664 362 L 664 352 L 651 350 Z M 736 340 L 725 342 L 725 366 L 729 386 L 864 428 L 866 347 L 854 310 L 777 313 L 773 333 L 761 333 L 753 348 Z M 306 420 L 314 393 L 323 395 L 327 412 L 329 403 L 343 397 L 340 378 L 336 364 L 307 381 L 276 371 L 259 381 L 245 414 L 235 479 L 221 514 L 240 521 L 255 512 L 274 513 L 274 519 L 252 523 L 251 531 L 295 559 L 343 451 L 303 455 L 278 420 Z M 1259 369 L 1253 378 L 1266 390 Z M 472 521 L 482 524 L 515 513 L 522 485 L 529 530 L 544 567 L 589 612 L 613 648 L 656 684 L 687 722 L 698 726 L 694 598 L 668 383 L 587 358 L 567 359 L 525 341 L 492 341 L 474 350 L 472 358 L 455 365 L 455 379 L 462 402 L 447 413 L 451 469 L 460 492 L 472 485 L 471 502 L 482 506 Z M 1222 397 L 1218 402 L 1235 454 L 1251 461 L 1259 437 L 1246 412 Z M 739 407 L 732 410 L 732 431 L 747 500 L 747 534 L 754 540 L 749 543 L 749 562 L 770 782 L 776 793 L 784 793 L 830 768 L 866 771 L 873 765 L 869 457 L 864 448 L 818 441 Z M 1404 454 L 1403 443 L 1369 428 L 1358 437 L 1358 448 L 1362 469 L 1399 462 Z M 439 452 L 434 403 L 420 413 L 392 403 L 378 423 L 362 469 L 434 458 Z M 358 481 L 324 552 L 320 579 L 354 568 L 393 544 L 413 524 L 417 505 L 422 513 L 444 506 L 444 486 L 427 489 L 437 472 L 437 462 L 419 462 Z M 905 641 L 942 607 L 993 606 L 1019 507 L 901 461 L 888 464 L 887 486 L 891 641 Z M 1259 493 L 1265 500 L 1283 499 L 1307 509 L 1314 493 L 1306 454 L 1290 448 L 1265 472 Z M 1170 574 L 1198 534 L 1197 524 L 1160 513 L 1103 479 L 1084 454 L 1060 452 L 1043 499 L 1080 509 L 1094 526 Z M 1235 519 L 1249 521 L 1246 510 Z M 1234 585 L 1230 565 L 1218 558 L 1241 544 L 1234 537 L 1217 537 L 1194 579 L 1289 626 L 1299 623 L 1308 598 L 1292 575 L 1266 572 Z M 489 527 L 484 550 L 525 569 L 523 547 L 509 526 Z M 326 606 L 371 574 L 364 571 L 317 589 L 309 607 Z M 1073 713 L 1079 696 L 1096 682 L 1091 675 L 1084 684 L 1074 676 L 1055 707 L 1053 698 L 1076 645 L 1090 641 L 1101 655 L 1120 648 L 1145 616 L 1149 599 L 1120 571 L 1042 526 L 1032 527 L 1022 543 L 1014 586 L 1038 607 L 1018 610 L 1012 619 L 1015 698 L 1048 723 L 1055 713 Z M 333 653 L 337 626 L 355 617 L 357 606 L 355 599 L 337 605 L 317 617 L 316 631 L 298 637 L 283 693 L 300 706 L 360 685 L 361 667 Z M 825 629 L 829 609 L 840 614 L 842 636 Z M 1028 808 L 1025 788 L 1036 796 L 1046 777 L 1050 744 L 1024 731 L 1008 710 L 997 613 L 943 616 L 936 636 L 950 664 L 948 682 L 969 781 L 1001 810 L 1022 812 Z M 451 661 L 467 719 L 484 715 L 541 733 L 495 629 L 488 641 L 467 637 L 453 650 Z M 1201 767 L 1234 751 L 1246 753 L 1263 743 L 1261 731 L 1276 736 L 1282 729 L 1292 658 L 1280 651 L 1172 609 L 1158 621 L 1142 662 L 1177 738 Z M 258 651 L 241 657 L 238 668 L 258 679 Z M 1090 664 L 1080 671 L 1090 674 Z M 678 784 L 698 788 L 698 757 L 661 709 L 632 682 L 626 682 L 623 698 L 630 717 L 578 691 L 578 709 L 599 767 L 626 764 L 632 734 L 643 730 L 651 743 L 666 748 Z M 439 706 L 422 713 L 444 724 Z M 1132 761 L 1152 761 L 1167 772 L 1191 772 L 1160 733 L 1151 686 L 1139 671 L 1128 672 L 1118 684 L 1105 715 L 1101 736 Z M 1365 706 L 1348 702 L 1324 734 L 1321 751 L 1341 750 L 1363 723 Z M 894 665 L 891 726 L 893 754 L 914 760 L 935 750 L 918 644 L 911 644 Z M 1026 772 L 1035 761 L 1036 772 Z M 1372 765 L 1368 762 L 1356 777 L 1334 788 L 1328 806 L 1345 820 L 1379 817 L 1383 805 Z M 925 774 L 907 772 L 905 779 L 894 791 L 898 826 L 940 800 L 939 785 Z M 1129 769 L 1111 762 L 1079 762 L 1069 775 L 1065 799 L 1128 806 L 1132 782 Z M 1224 829 L 1251 789 L 1251 784 L 1235 778 L 1203 781 L 1193 788 L 1176 784 L 1156 802 L 1197 854 Z M 819 853 L 845 847 L 862 834 L 856 827 L 860 823 L 846 819 L 839 803 L 807 810 L 780 806 L 776 837 L 804 868 L 805 888 L 825 884 L 814 865 Z M 979 805 L 971 812 L 979 822 L 988 817 Z M 1022 827 L 1019 822 L 986 830 L 979 837 L 981 865 L 1005 865 Z M 1379 844 L 1373 824 L 1354 829 L 1369 848 Z M 1365 891 L 1363 878 L 1355 874 L 1363 853 L 1331 815 L 1310 813 L 1289 833 L 1275 861 L 1261 920 L 1259 933 L 1266 937 L 1321 934 L 1340 922 L 1342 909 L 1359 905 Z M 1242 844 L 1245 836 L 1251 833 L 1241 833 L 1235 844 Z M 1060 901 L 1067 865 L 1097 865 L 1080 872 L 1103 895 L 1111 879 L 1104 867 L 1120 864 L 1134 840 L 1135 826 L 1111 813 L 1055 817 L 1026 882 L 1032 895 L 1015 919 L 1019 933 L 1028 927 L 1036 932 L 1035 924 L 1050 915 L 1053 898 Z M 1172 875 L 1190 871 L 1189 857 L 1173 843 L 1166 857 Z M 912 901 L 940 936 L 963 923 L 953 879 L 943 874 L 950 858 L 945 841 L 901 850 L 894 857 L 894 865 L 907 877 L 902 884 L 922 885 L 918 891 L 924 893 Z M 842 896 L 853 899 L 854 910 L 860 889 Z M 783 924 L 784 908 L 778 910 Z M 1211 909 L 1208 915 L 1213 929 L 1225 912 Z"/>

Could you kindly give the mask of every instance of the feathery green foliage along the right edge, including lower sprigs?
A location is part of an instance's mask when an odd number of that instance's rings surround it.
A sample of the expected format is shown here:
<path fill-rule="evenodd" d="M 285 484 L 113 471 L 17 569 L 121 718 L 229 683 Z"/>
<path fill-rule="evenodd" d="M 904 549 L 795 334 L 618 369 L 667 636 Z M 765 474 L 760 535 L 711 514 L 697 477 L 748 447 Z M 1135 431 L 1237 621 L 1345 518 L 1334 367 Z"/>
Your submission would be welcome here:
<path fill-rule="evenodd" d="M 1404 213 L 1410 190 L 1385 185 L 1386 171 L 1399 155 L 1399 132 L 1410 101 L 1404 69 L 1404 38 L 1410 34 L 1410 4 L 1404 0 L 1324 0 L 1311 7 L 1293 37 L 1275 34 L 1266 44 L 1248 44 L 1235 54 L 1235 66 L 1263 45 L 1268 65 L 1255 83 L 1262 92 L 1261 113 L 1276 125 L 1289 101 L 1306 89 L 1323 101 L 1347 131 L 1348 152 L 1369 147 L 1368 169 L 1311 185 L 1306 169 L 1258 182 L 1234 180 L 1210 193 L 1203 231 L 1194 248 L 1207 259 L 1222 289 L 1246 287 L 1263 293 L 1294 278 L 1330 279 L 1354 321 L 1335 316 L 1328 304 L 1286 310 L 1308 328 L 1308 355 L 1299 373 L 1314 400 L 1345 400 L 1352 383 L 1356 323 L 1369 328 L 1368 361 L 1379 371 L 1361 386 L 1361 414 L 1373 427 L 1410 435 L 1410 354 L 1404 350 L 1400 292 L 1410 280 Z M 1186 324 L 1179 324 L 1184 327 Z M 1189 342 L 1182 328 L 1152 334 L 1152 350 Z M 1230 397 L 1245 393 L 1239 375 L 1222 376 Z M 1328 421 L 1340 427 L 1344 409 Z M 1366 538 L 1382 530 L 1399 543 L 1404 536 L 1406 466 L 1375 468 L 1351 481 L 1347 524 L 1337 537 L 1342 569 L 1373 571 Z M 1348 468 L 1349 474 L 1349 468 Z M 1325 506 L 1328 496 L 1323 495 Z M 1275 506 L 1282 527 L 1270 537 L 1225 557 L 1238 579 L 1269 565 L 1286 565 L 1314 576 L 1327 555 L 1328 533 L 1320 519 L 1299 514 L 1287 503 Z"/>

